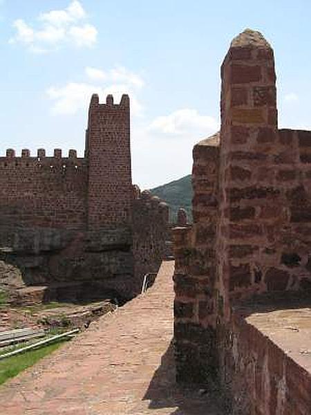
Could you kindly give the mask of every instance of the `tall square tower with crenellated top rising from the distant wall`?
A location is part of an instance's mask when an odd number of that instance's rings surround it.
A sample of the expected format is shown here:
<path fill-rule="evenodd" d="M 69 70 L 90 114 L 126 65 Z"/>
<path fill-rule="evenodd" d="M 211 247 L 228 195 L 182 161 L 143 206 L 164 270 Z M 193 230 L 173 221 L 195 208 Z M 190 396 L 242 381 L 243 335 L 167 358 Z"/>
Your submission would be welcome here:
<path fill-rule="evenodd" d="M 132 179 L 129 96 L 120 104 L 93 95 L 86 130 L 88 229 L 131 223 Z"/>

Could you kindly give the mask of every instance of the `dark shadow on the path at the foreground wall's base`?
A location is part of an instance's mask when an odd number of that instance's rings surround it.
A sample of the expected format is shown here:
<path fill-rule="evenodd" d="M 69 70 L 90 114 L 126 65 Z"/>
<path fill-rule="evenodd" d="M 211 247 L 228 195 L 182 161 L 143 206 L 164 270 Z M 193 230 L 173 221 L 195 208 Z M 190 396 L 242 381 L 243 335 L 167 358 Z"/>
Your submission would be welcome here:
<path fill-rule="evenodd" d="M 143 400 L 150 400 L 149 409 L 171 408 L 171 415 L 225 415 L 220 412 L 220 394 L 218 390 L 185 389 L 176 385 L 173 340 L 161 358 L 161 365 L 153 378 Z"/>

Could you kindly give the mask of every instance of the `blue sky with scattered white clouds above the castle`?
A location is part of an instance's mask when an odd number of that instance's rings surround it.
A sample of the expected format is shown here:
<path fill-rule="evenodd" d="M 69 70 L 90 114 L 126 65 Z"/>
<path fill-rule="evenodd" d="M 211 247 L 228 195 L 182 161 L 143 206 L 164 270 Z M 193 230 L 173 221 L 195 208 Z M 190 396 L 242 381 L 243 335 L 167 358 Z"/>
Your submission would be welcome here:
<path fill-rule="evenodd" d="M 84 150 L 92 92 L 131 96 L 133 181 L 191 172 L 218 129 L 220 64 L 245 28 L 276 57 L 279 126 L 311 129 L 310 0 L 0 0 L 0 155 Z"/>

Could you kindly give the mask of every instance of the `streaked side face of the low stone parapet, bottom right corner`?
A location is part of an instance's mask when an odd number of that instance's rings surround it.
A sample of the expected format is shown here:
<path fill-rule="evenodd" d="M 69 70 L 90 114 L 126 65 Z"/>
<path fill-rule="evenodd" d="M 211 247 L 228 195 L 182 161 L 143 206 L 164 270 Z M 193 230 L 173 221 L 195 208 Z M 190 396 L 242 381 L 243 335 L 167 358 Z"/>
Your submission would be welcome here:
<path fill-rule="evenodd" d="M 269 313 L 262 313 L 265 325 L 272 333 L 277 331 Z M 292 350 L 285 353 L 256 324 L 247 321 L 241 310 L 232 313 L 229 324 L 219 326 L 218 349 L 222 385 L 232 399 L 232 415 L 310 414 L 310 371 L 289 356 Z"/>

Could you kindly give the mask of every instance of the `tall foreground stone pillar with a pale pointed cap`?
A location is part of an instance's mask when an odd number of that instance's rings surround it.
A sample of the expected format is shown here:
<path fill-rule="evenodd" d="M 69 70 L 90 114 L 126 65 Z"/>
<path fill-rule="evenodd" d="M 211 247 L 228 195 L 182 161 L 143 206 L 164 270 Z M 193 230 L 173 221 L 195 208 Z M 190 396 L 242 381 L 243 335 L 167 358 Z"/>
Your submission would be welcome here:
<path fill-rule="evenodd" d="M 277 131 L 274 55 L 261 33 L 245 30 L 232 41 L 221 77 L 218 303 L 228 318 L 229 297 L 261 289 L 261 267 L 248 255 L 267 242 L 258 206 L 278 201 L 269 180 Z"/>

